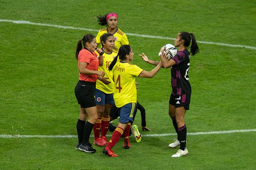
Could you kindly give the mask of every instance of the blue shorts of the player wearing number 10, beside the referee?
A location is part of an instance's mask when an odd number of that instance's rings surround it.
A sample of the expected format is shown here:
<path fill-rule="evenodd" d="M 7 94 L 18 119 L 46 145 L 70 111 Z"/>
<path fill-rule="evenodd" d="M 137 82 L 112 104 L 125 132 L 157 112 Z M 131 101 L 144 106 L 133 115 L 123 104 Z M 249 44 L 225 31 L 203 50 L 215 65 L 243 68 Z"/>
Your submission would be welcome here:
<path fill-rule="evenodd" d="M 102 106 L 105 106 L 106 104 L 115 103 L 113 98 L 113 93 L 107 94 L 98 89 L 96 89 L 95 91 L 95 99 L 96 99 L 96 104 L 102 105 Z"/>

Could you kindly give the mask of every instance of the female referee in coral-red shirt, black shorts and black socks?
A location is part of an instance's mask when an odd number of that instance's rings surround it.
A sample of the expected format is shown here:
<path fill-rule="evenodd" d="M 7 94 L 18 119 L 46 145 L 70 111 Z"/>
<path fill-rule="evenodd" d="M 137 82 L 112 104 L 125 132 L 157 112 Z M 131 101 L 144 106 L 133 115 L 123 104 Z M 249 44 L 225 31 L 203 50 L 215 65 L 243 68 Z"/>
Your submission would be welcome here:
<path fill-rule="evenodd" d="M 99 53 L 99 57 L 95 50 Z M 75 88 L 75 95 L 79 104 L 79 119 L 76 124 L 78 133 L 76 149 L 87 153 L 96 152 L 89 142 L 89 137 L 98 118 L 94 97 L 96 80 L 98 76 L 104 77 L 105 75 L 104 71 L 98 71 L 98 66 L 103 64 L 102 54 L 102 49 L 96 49 L 94 35 L 87 34 L 78 41 L 76 59 L 78 60 L 79 81 Z M 87 116 L 89 119 L 86 122 Z"/>

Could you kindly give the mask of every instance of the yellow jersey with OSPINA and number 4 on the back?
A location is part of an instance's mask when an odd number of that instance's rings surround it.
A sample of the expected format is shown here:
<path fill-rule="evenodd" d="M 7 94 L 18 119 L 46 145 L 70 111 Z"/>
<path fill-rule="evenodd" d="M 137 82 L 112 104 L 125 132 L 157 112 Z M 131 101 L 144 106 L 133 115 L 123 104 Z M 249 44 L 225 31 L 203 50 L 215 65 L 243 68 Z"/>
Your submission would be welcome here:
<path fill-rule="evenodd" d="M 136 77 L 143 71 L 136 65 L 117 61 L 112 69 L 115 82 L 115 105 L 121 108 L 125 104 L 137 102 Z"/>

